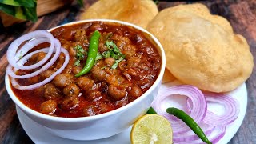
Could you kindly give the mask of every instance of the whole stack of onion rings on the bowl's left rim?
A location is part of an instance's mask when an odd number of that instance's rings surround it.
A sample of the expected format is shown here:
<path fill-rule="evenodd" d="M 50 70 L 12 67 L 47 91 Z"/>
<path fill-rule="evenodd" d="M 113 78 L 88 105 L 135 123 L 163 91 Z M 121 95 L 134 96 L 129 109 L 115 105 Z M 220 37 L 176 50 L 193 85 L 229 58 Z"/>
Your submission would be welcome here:
<path fill-rule="evenodd" d="M 22 46 L 24 42 L 26 43 Z M 39 44 L 44 42 L 49 42 L 50 46 L 42 48 L 40 50 L 35 50 L 27 54 L 31 49 L 34 48 L 34 46 L 38 46 Z M 39 62 L 34 63 L 33 65 L 24 66 L 24 64 L 33 54 L 39 52 L 46 53 L 46 56 Z M 65 54 L 65 62 L 57 71 L 54 72 L 54 74 L 50 75 L 49 78 L 46 78 L 42 82 L 34 83 L 29 86 L 20 86 L 18 82 L 16 82 L 15 78 L 31 78 L 37 76 L 38 74 L 41 74 L 43 71 L 47 70 L 50 66 L 52 66 L 54 62 L 57 61 L 61 52 Z M 52 54 L 54 54 L 53 57 Z M 29 34 L 22 35 L 22 37 L 16 39 L 14 42 L 10 44 L 7 50 L 7 60 L 9 62 L 9 65 L 6 68 L 6 73 L 10 75 L 11 84 L 19 90 L 33 90 L 45 85 L 46 83 L 50 82 L 57 74 L 62 73 L 62 71 L 65 69 L 70 60 L 70 56 L 68 51 L 61 47 L 61 43 L 58 41 L 58 39 L 54 38 L 54 36 L 50 34 L 50 32 L 46 30 L 36 30 L 30 32 Z M 25 75 L 15 74 L 18 70 L 34 69 L 38 70 L 35 70 L 33 73 Z"/>

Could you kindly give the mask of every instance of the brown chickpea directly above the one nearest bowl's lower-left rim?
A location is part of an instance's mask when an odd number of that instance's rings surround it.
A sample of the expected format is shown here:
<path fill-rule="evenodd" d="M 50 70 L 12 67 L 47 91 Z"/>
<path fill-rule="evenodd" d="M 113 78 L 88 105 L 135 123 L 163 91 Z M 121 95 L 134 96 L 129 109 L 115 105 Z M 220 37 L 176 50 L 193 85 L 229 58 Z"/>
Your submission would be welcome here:
<path fill-rule="evenodd" d="M 52 83 L 48 83 L 45 86 L 44 97 L 47 99 L 58 99 L 58 98 L 61 98 L 62 96 L 56 86 L 54 86 Z"/>

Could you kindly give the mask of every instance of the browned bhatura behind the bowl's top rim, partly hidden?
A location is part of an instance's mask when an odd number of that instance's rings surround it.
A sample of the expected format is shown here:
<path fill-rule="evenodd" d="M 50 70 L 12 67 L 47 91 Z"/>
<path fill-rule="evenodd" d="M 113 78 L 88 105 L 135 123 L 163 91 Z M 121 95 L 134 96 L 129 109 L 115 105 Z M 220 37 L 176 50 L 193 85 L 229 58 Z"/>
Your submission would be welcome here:
<path fill-rule="evenodd" d="M 81 14 L 80 19 L 115 19 L 146 28 L 156 14 L 158 7 L 152 0 L 100 0 Z"/>

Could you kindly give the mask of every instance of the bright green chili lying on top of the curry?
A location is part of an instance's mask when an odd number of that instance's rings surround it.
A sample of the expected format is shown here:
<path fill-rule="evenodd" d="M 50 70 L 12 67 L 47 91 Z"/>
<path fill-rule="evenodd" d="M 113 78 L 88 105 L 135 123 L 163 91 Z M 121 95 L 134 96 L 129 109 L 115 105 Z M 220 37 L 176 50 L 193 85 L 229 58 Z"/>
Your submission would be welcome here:
<path fill-rule="evenodd" d="M 90 44 L 89 44 L 89 50 L 88 50 L 88 55 L 86 59 L 86 65 L 84 68 L 75 76 L 79 77 L 83 74 L 87 74 L 90 69 L 94 66 L 95 58 L 98 53 L 98 41 L 100 38 L 101 34 L 98 32 L 98 30 L 94 31 L 94 34 L 90 38 Z"/>

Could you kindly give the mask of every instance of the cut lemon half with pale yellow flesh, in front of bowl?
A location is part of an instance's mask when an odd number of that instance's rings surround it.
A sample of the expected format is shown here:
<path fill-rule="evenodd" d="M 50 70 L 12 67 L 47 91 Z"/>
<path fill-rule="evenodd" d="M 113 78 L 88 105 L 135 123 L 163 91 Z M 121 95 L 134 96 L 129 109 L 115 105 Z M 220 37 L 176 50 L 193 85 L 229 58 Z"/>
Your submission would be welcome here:
<path fill-rule="evenodd" d="M 139 118 L 130 131 L 133 144 L 173 143 L 170 122 L 158 114 L 146 114 Z"/>

